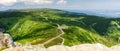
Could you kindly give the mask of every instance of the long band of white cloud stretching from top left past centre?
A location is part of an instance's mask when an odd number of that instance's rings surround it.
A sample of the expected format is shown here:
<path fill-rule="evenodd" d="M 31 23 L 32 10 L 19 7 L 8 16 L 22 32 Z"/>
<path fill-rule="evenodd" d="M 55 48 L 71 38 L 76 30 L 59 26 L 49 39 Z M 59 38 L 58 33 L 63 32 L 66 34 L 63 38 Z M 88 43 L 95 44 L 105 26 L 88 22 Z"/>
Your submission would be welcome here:
<path fill-rule="evenodd" d="M 3 6 L 11 6 L 15 3 L 24 3 L 25 5 L 32 5 L 32 4 L 66 4 L 66 0 L 1 0 L 0 5 Z"/>

